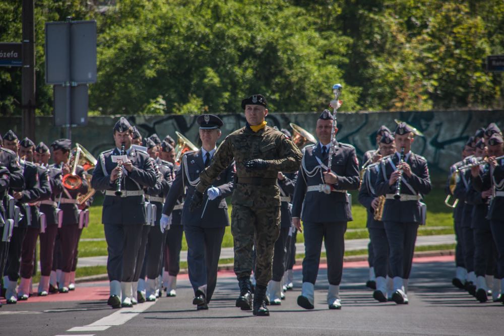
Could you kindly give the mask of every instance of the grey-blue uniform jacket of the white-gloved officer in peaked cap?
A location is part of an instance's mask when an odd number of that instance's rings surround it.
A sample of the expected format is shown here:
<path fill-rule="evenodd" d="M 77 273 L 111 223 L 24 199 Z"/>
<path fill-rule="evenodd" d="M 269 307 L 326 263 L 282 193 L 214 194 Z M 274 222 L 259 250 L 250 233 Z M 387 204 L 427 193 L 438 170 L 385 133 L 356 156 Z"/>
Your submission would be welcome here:
<path fill-rule="evenodd" d="M 213 158 L 212 158 L 213 160 Z M 201 150 L 187 152 L 182 157 L 182 163 L 177 170 L 175 180 L 171 185 L 168 196 L 164 203 L 163 214 L 170 215 L 173 207 L 177 204 L 177 199 L 185 192 L 185 202 L 182 209 L 182 224 L 198 226 L 204 228 L 216 228 L 229 225 L 227 213 L 226 196 L 233 190 L 234 163 L 230 164 L 214 181 L 214 187 L 220 189 L 221 194 L 214 200 L 208 200 L 205 190 L 203 193 L 203 205 L 194 212 L 189 210 L 191 197 L 200 181 L 200 173 L 205 169 Z M 208 204 L 207 204 L 208 200 Z M 205 209 L 206 207 L 206 209 Z M 203 214 L 203 210 L 205 213 Z M 203 218 L 202 218 L 203 214 Z"/>

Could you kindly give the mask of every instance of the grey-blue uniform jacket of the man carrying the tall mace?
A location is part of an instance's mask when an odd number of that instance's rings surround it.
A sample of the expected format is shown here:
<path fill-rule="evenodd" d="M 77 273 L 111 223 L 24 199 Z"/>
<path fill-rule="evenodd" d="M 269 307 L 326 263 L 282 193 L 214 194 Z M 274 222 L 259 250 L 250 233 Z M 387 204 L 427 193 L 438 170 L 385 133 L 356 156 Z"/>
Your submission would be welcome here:
<path fill-rule="evenodd" d="M 353 220 L 351 197 L 347 195 L 347 190 L 355 190 L 359 187 L 359 162 L 353 146 L 336 142 L 331 170 L 338 176 L 338 184 L 333 185 L 334 190 L 337 191 L 332 191 L 330 194 L 308 191 L 310 187 L 317 188 L 324 184 L 323 172 L 326 170 L 317 158 L 327 166 L 328 157 L 322 158 L 320 143 L 304 148 L 294 189 L 292 217 L 313 223 Z"/>

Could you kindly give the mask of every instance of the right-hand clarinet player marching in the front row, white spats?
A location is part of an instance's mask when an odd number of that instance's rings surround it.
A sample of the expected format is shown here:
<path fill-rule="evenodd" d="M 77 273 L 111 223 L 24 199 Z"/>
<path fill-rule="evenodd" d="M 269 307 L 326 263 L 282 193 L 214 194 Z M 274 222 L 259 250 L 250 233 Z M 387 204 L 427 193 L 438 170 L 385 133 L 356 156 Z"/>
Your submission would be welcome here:
<path fill-rule="evenodd" d="M 380 163 L 375 192 L 386 198 L 382 220 L 389 241 L 392 299 L 402 304 L 408 303 L 406 294 L 418 225 L 425 223 L 426 209 L 420 200 L 430 192 L 431 184 L 427 161 L 411 152 L 413 129 L 401 122 L 394 133 L 396 153 Z"/>

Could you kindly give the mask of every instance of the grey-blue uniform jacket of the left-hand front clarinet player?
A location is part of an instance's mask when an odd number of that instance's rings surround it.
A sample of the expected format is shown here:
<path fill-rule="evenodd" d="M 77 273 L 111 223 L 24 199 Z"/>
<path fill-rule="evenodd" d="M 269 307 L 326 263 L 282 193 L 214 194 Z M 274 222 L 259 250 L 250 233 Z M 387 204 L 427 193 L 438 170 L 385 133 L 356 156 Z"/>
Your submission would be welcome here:
<path fill-rule="evenodd" d="M 122 174 L 121 190 L 123 195 L 128 191 L 141 192 L 134 196 L 116 196 L 116 181 L 110 183 L 110 173 L 117 166 L 112 162 L 113 155 L 119 155 L 120 151 L 115 148 L 103 152 L 98 157 L 96 168 L 93 171 L 91 185 L 96 190 L 109 190 L 109 195 L 105 193 L 103 200 L 102 223 L 103 224 L 123 224 L 142 225 L 146 224 L 146 211 L 144 208 L 145 196 L 144 187 L 154 187 L 156 185 L 156 170 L 151 157 L 146 152 L 131 148 L 128 159 L 133 163 L 131 173 Z"/>

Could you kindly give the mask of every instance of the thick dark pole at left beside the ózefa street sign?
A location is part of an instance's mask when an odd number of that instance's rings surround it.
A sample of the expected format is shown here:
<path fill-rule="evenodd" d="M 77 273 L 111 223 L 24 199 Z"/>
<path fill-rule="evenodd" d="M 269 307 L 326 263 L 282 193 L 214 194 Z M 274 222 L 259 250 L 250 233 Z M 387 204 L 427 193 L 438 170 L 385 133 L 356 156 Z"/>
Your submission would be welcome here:
<path fill-rule="evenodd" d="M 23 0 L 23 68 L 21 71 L 22 133 L 35 139 L 35 26 L 33 0 Z"/>

